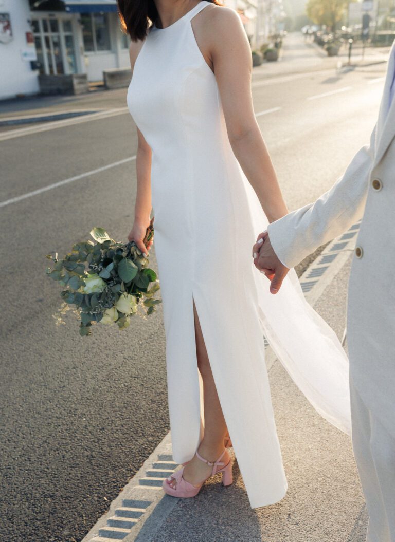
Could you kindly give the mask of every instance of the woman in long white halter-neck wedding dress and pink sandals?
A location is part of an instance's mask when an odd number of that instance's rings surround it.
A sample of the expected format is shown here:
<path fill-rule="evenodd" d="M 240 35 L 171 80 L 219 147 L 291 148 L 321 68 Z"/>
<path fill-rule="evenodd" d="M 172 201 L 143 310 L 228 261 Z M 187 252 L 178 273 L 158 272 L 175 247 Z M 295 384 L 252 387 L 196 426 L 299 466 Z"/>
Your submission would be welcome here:
<path fill-rule="evenodd" d="M 264 336 L 315 409 L 349 432 L 347 358 L 295 273 L 272 296 L 251 261 L 262 227 L 288 210 L 254 117 L 239 16 L 206 0 L 118 7 L 138 135 L 129 239 L 148 252 L 153 207 L 173 457 L 184 463 L 164 491 L 192 497 L 218 472 L 230 484 L 231 437 L 251 507 L 270 505 L 287 485 Z"/>

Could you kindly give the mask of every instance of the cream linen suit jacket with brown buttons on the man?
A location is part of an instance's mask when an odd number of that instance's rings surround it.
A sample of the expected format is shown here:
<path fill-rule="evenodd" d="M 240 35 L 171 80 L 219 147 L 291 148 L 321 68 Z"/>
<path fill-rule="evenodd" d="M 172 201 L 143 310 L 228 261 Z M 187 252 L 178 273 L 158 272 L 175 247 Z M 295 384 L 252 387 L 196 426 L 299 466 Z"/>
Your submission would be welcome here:
<path fill-rule="evenodd" d="M 371 142 L 315 203 L 269 225 L 279 259 L 294 267 L 362 218 L 348 287 L 350 378 L 367 408 L 395 435 L 395 98 L 390 60 Z M 395 83 L 394 83 L 395 84 Z"/>

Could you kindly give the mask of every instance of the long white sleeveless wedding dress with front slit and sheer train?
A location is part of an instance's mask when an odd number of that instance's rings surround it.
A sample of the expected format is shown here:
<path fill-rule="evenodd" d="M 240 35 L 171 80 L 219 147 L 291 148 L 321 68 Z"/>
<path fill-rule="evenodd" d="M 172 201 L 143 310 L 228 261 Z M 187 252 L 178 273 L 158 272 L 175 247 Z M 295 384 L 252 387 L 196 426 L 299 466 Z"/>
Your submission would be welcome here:
<path fill-rule="evenodd" d="M 169 27 L 151 27 L 128 105 L 152 149 L 173 457 L 179 463 L 192 458 L 204 423 L 194 301 L 254 508 L 282 499 L 287 487 L 264 335 L 314 408 L 347 433 L 348 360 L 304 300 L 293 270 L 271 295 L 253 266 L 251 247 L 267 219 L 233 154 L 215 77 L 192 30 L 192 18 L 209 4 L 201 1 Z"/>

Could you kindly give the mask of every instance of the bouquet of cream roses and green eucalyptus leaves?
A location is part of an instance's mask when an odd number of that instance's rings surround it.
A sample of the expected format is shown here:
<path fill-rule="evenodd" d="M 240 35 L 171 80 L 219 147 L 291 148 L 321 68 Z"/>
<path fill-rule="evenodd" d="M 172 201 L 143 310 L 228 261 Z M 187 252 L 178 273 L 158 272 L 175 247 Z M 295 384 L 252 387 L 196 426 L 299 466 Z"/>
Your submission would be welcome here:
<path fill-rule="evenodd" d="M 111 239 L 103 228 L 93 228 L 96 241 L 74 244 L 71 253 L 58 259 L 47 254 L 53 267 L 47 274 L 65 287 L 60 296 L 60 311 L 74 306 L 80 319 L 80 335 L 90 335 L 92 324 L 117 324 L 120 330 L 130 325 L 130 317 L 140 307 L 150 315 L 155 311 L 159 281 L 149 269 L 135 242 L 120 243 Z M 144 243 L 154 235 L 153 219 Z"/>

